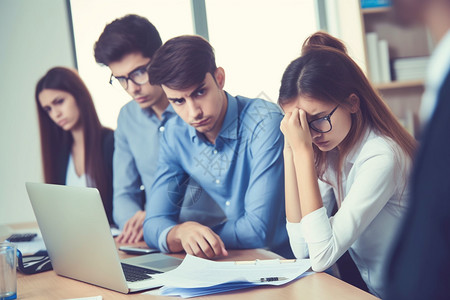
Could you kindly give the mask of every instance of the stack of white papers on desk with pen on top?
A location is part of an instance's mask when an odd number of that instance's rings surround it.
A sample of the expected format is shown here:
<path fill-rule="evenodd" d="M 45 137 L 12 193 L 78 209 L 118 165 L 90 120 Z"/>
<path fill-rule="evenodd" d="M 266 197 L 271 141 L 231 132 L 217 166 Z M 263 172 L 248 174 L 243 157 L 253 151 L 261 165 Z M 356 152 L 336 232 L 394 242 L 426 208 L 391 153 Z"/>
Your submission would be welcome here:
<path fill-rule="evenodd" d="M 259 285 L 283 285 L 304 277 L 309 259 L 212 261 L 186 255 L 174 270 L 152 275 L 163 287 L 160 294 L 183 298 L 221 293 Z"/>

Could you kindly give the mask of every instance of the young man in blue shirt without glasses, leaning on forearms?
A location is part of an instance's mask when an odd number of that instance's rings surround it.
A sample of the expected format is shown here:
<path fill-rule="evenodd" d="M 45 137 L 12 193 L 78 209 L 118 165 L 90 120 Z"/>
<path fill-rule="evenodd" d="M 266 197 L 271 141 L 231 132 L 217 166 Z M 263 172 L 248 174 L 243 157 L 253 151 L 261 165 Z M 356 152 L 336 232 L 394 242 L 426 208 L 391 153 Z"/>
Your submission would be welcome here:
<path fill-rule="evenodd" d="M 161 85 L 179 117 L 161 136 L 144 222 L 148 245 L 200 257 L 228 249 L 269 248 L 292 256 L 285 228 L 282 113 L 274 103 L 223 90 L 211 45 L 198 36 L 166 42 L 153 57 L 150 82 Z M 180 196 L 193 178 L 225 212 L 204 226 L 179 219 Z"/>

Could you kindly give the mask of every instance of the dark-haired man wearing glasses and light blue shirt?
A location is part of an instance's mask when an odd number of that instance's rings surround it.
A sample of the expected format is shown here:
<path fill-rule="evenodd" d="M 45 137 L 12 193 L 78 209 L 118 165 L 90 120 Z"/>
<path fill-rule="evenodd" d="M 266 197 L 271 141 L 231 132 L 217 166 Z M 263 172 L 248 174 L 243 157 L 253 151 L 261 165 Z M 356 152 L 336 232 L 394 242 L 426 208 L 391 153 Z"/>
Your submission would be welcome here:
<path fill-rule="evenodd" d="M 143 239 L 145 198 L 156 172 L 159 135 L 175 116 L 164 91 L 149 83 L 147 73 L 161 44 L 147 19 L 127 15 L 108 24 L 94 46 L 97 63 L 111 69 L 110 83 L 133 97 L 121 109 L 114 135 L 113 218 L 122 229 L 120 243 Z"/>

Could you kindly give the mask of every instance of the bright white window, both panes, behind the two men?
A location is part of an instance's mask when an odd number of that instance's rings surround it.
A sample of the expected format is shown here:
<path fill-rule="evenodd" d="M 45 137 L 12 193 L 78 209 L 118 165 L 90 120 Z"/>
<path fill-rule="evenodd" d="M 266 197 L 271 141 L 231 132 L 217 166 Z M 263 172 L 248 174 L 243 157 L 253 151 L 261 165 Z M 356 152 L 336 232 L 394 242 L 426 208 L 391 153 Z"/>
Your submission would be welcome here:
<path fill-rule="evenodd" d="M 125 91 L 109 85 L 109 68 L 95 62 L 93 46 L 105 25 L 134 13 L 148 18 L 163 42 L 194 34 L 191 1 L 70 1 L 78 70 L 103 125 L 116 128 L 119 110 L 130 100 Z M 225 90 L 276 102 L 283 71 L 300 55 L 305 38 L 318 29 L 315 1 L 205 0 L 205 4 L 207 22 L 203 24 L 207 24 L 217 65 L 225 69 Z"/>

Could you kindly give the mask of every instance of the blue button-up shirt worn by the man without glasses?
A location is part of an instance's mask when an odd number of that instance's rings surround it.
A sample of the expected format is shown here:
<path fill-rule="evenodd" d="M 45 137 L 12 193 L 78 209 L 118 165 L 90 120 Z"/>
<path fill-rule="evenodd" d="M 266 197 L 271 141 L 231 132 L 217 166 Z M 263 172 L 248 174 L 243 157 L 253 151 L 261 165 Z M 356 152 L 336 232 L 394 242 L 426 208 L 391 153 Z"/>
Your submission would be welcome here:
<path fill-rule="evenodd" d="M 227 99 L 215 145 L 179 117 L 167 122 L 144 239 L 168 252 L 167 234 L 179 223 L 186 182 L 194 179 L 226 215 L 212 227 L 225 247 L 269 248 L 292 257 L 285 228 L 283 115 L 276 104 L 261 99 L 229 94 Z"/>

